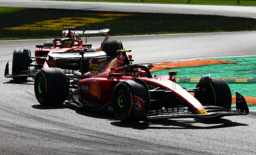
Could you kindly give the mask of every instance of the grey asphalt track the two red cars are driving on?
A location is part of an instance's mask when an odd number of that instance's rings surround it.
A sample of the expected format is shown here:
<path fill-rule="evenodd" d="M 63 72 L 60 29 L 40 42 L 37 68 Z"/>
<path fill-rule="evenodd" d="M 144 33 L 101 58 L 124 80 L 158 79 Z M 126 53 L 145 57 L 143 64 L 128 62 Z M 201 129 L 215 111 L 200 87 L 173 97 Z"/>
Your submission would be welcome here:
<path fill-rule="evenodd" d="M 122 40 L 126 49 L 132 49 L 136 63 L 256 53 L 256 32 L 110 39 Z M 102 40 L 90 38 L 89 43 L 97 47 Z M 1 155 L 256 154 L 255 112 L 218 121 L 168 119 L 128 125 L 113 115 L 42 107 L 34 96 L 32 79 L 15 84 L 3 75 L 6 62 L 12 63 L 14 49 L 27 47 L 33 53 L 35 45 L 44 41 L 0 42 Z"/>

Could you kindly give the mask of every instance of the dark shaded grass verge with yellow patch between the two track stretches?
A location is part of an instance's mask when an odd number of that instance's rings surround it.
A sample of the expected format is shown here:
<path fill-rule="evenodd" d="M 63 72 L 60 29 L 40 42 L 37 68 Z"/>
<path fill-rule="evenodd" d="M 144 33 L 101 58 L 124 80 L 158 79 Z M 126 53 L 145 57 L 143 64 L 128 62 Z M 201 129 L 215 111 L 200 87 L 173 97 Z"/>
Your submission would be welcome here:
<path fill-rule="evenodd" d="M 0 40 L 56 38 L 67 26 L 111 36 L 256 30 L 256 19 L 211 15 L 0 7 L 0 19 Z"/>

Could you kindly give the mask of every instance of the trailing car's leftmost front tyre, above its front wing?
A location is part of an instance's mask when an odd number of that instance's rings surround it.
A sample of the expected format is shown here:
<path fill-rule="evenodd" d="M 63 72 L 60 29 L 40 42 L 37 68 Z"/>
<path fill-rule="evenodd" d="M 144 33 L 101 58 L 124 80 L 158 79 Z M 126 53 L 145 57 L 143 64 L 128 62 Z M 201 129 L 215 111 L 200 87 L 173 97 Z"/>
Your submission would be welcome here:
<path fill-rule="evenodd" d="M 17 74 L 28 70 L 30 64 L 30 54 L 25 49 L 16 49 L 12 54 L 12 74 Z M 13 77 L 14 80 L 24 81 L 27 77 Z"/>

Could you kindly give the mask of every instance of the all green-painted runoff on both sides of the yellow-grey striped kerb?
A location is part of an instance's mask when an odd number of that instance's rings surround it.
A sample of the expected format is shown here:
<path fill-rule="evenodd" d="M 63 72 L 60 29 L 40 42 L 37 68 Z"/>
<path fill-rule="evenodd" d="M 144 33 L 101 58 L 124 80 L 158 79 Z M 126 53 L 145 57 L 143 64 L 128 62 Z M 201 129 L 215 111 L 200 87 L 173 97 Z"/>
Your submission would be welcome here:
<path fill-rule="evenodd" d="M 211 74 L 216 78 L 256 78 L 256 56 L 232 57 L 232 58 L 214 58 L 216 60 L 238 62 L 238 64 L 217 64 L 210 66 L 196 66 L 173 68 L 152 72 L 152 75 L 168 75 L 171 70 L 177 71 L 176 77 L 202 77 Z M 194 88 L 196 83 L 178 83 L 182 87 Z M 228 83 L 232 95 L 236 91 L 244 96 L 256 97 L 256 83 Z"/>

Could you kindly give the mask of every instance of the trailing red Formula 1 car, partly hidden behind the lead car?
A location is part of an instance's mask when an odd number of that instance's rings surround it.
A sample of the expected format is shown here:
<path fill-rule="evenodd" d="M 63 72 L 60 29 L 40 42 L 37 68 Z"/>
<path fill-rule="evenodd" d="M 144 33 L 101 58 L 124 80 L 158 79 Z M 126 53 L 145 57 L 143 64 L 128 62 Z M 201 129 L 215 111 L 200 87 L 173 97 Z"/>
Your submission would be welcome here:
<path fill-rule="evenodd" d="M 109 56 L 116 58 L 116 50 L 122 50 L 123 45 L 119 40 L 108 41 L 109 29 L 102 30 L 73 30 L 74 28 L 64 28 L 62 38 L 47 41 L 43 45 L 36 45 L 35 57 L 31 56 L 29 49 L 16 49 L 12 58 L 12 75 L 9 74 L 9 62 L 6 64 L 5 77 L 14 80 L 26 80 L 33 77 L 41 68 L 62 68 L 66 72 L 80 69 L 80 50 L 86 51 L 86 58 L 99 58 Z M 100 48 L 92 48 L 92 44 L 87 44 L 88 35 L 105 34 L 105 39 Z M 66 38 L 64 36 L 67 36 Z M 86 44 L 83 44 L 81 36 L 86 36 Z M 55 61 L 58 58 L 58 61 Z M 61 59 L 63 58 L 63 59 Z M 70 58 L 70 59 L 68 59 Z M 74 58 L 74 59 L 73 59 Z M 34 59 L 34 60 L 32 60 Z M 32 64 L 36 62 L 36 64 Z M 30 67 L 34 66 L 34 70 Z M 84 68 L 85 70 L 85 68 Z"/>

